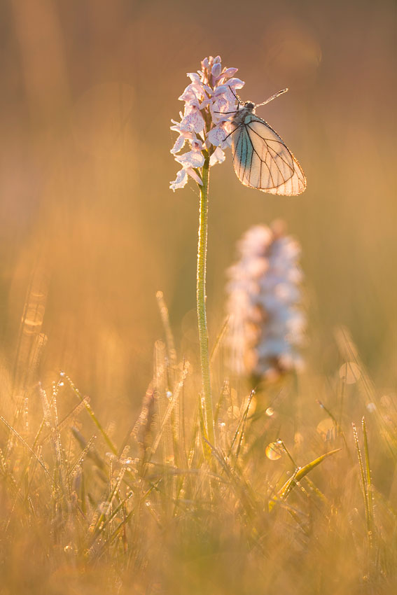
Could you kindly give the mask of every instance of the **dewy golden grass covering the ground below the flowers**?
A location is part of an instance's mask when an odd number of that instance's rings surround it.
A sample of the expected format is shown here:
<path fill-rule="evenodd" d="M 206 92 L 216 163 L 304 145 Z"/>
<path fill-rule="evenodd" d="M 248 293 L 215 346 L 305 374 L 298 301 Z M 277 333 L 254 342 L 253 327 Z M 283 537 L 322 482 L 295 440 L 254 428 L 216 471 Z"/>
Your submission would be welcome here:
<path fill-rule="evenodd" d="M 308 371 L 250 393 L 218 349 L 214 447 L 158 300 L 167 342 L 127 435 L 65 372 L 2 407 L 1 592 L 393 592 L 397 413 L 347 331 L 356 376 L 342 365 L 327 390 Z"/>

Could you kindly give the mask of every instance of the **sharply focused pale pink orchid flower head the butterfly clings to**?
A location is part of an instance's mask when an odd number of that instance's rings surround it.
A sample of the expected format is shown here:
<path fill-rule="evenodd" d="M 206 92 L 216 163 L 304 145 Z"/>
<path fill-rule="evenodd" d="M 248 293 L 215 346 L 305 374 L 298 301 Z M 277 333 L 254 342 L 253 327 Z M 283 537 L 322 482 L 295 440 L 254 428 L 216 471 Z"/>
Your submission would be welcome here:
<path fill-rule="evenodd" d="M 235 78 L 237 68 L 222 68 L 221 57 L 209 56 L 201 63 L 201 70 L 188 73 L 191 83 L 179 99 L 185 102 L 181 120 L 172 120 L 171 130 L 179 133 L 171 153 L 182 169 L 170 183 L 172 190 L 186 186 L 188 176 L 202 184 L 201 168 L 209 157 L 209 165 L 225 160 L 224 148 L 231 144 L 230 113 L 237 109 L 235 93 L 244 82 Z M 230 112 L 230 113 L 227 113 Z M 179 152 L 186 145 L 190 151 Z"/>

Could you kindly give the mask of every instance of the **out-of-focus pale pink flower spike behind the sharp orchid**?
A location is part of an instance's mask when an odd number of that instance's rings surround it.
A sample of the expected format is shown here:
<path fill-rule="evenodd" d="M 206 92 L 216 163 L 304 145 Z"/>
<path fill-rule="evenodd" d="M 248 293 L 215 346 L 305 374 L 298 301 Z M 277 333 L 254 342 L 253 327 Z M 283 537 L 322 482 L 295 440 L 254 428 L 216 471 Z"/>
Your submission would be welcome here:
<path fill-rule="evenodd" d="M 274 379 L 302 367 L 300 246 L 284 225 L 256 225 L 239 242 L 228 270 L 230 365 L 237 374 Z"/>

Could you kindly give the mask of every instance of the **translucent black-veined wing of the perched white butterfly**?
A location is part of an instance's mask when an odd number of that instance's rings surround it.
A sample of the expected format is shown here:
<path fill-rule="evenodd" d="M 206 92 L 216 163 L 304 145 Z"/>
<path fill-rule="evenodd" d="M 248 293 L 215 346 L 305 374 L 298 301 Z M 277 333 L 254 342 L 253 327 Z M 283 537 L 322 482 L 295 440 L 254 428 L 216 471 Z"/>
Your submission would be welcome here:
<path fill-rule="evenodd" d="M 244 186 L 279 195 L 298 195 L 306 188 L 298 161 L 277 132 L 255 114 L 232 132 L 232 155 Z"/>

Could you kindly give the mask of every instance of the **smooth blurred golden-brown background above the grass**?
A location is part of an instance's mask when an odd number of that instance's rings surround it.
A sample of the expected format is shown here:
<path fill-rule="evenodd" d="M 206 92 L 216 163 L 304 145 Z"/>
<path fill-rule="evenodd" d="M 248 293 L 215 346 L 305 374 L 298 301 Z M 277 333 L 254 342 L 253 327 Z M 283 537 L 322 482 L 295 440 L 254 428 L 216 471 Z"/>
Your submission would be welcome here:
<path fill-rule="evenodd" d="M 116 414 L 137 407 L 151 379 L 163 334 L 157 290 L 178 346 L 194 342 L 198 195 L 193 182 L 169 190 L 179 169 L 169 125 L 183 106 L 186 72 L 221 55 L 238 67 L 243 99 L 261 102 L 289 87 L 258 115 L 300 161 L 307 191 L 283 198 L 244 188 L 230 153 L 211 170 L 210 340 L 235 242 L 250 225 L 281 217 L 302 244 L 310 365 L 319 374 L 335 369 L 333 329 L 343 324 L 370 372 L 391 383 L 393 14 L 387 0 L 4 0 L 4 366 L 12 370 L 15 358 L 26 365 L 29 332 L 44 333 L 39 377 L 66 370 Z M 27 337 L 18 341 L 27 295 L 32 328 L 25 310 Z"/>

